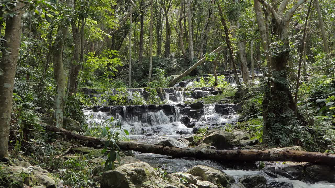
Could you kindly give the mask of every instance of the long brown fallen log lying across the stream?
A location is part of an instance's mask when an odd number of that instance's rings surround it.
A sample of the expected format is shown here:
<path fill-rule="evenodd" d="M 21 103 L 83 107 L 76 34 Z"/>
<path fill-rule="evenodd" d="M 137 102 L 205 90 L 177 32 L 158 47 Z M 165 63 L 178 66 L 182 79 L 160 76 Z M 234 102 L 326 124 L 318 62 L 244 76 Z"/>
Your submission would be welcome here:
<path fill-rule="evenodd" d="M 61 133 L 66 138 L 75 138 L 85 141 L 90 146 L 103 145 L 104 138 L 96 138 L 73 133 L 63 128 L 49 126 L 49 131 Z M 212 150 L 199 148 L 176 148 L 167 146 L 157 146 L 140 144 L 135 142 L 120 142 L 118 146 L 122 150 L 132 150 L 141 153 L 153 153 L 167 155 L 176 158 L 196 158 L 209 159 L 213 161 L 241 161 L 241 162 L 256 162 L 256 161 L 292 161 L 292 162 L 309 162 L 320 165 L 335 166 L 334 154 L 323 154 L 315 152 L 303 151 L 247 151 L 247 150 Z"/>

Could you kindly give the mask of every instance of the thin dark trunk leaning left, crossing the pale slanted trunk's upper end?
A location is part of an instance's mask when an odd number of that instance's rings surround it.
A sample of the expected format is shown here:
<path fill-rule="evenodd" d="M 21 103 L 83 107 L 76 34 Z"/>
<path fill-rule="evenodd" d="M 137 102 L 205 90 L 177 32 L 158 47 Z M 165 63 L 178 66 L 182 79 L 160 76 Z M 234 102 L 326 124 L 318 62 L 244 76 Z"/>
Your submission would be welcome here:
<path fill-rule="evenodd" d="M 234 77 L 235 77 L 235 81 L 237 85 L 240 85 L 240 80 L 239 80 L 239 75 L 237 74 L 237 69 L 236 69 L 236 64 L 235 64 L 235 60 L 234 60 L 234 55 L 233 55 L 233 51 L 231 48 L 231 43 L 230 43 L 230 38 L 229 38 L 229 31 L 228 31 L 228 27 L 226 24 L 226 21 L 224 20 L 223 17 L 223 13 L 222 13 L 222 8 L 221 5 L 219 3 L 219 1 L 217 1 L 217 7 L 219 9 L 219 14 L 220 14 L 220 18 L 221 18 L 221 23 L 224 29 L 224 34 L 225 34 L 225 38 L 226 38 L 226 44 L 229 50 L 229 55 L 230 55 L 230 61 L 232 62 L 232 67 L 233 67 L 233 71 L 234 71 Z"/>

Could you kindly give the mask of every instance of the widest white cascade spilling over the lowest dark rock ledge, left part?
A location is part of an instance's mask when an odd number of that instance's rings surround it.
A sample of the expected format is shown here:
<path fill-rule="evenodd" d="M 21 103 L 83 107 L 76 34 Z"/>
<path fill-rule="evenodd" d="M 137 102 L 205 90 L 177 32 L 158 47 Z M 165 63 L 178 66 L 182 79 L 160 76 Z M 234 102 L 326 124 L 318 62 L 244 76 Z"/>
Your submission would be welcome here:
<path fill-rule="evenodd" d="M 106 108 L 110 110 L 106 111 Z M 112 116 L 116 117 L 120 121 L 122 128 L 128 130 L 132 135 L 147 133 L 175 135 L 177 130 L 192 133 L 191 128 L 187 128 L 179 121 L 179 108 L 172 105 L 102 107 L 98 112 L 87 110 L 85 115 L 90 116 L 87 123 L 91 126 L 100 125 Z"/>

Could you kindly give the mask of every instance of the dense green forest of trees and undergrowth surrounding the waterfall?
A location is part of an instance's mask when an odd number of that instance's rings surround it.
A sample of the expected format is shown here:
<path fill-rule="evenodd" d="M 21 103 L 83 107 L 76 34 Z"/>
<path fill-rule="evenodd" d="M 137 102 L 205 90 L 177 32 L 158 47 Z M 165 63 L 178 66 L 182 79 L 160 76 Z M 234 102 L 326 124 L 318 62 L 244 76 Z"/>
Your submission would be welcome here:
<path fill-rule="evenodd" d="M 196 86 L 242 101 L 239 126 L 254 125 L 263 143 L 335 151 L 335 0 L 0 4 L 0 158 L 8 148 L 13 156 L 45 145 L 41 117 L 87 128 L 82 109 L 105 105 L 106 96 L 113 105 L 164 104 L 157 89 L 144 102 L 112 88 L 173 87 L 205 74 L 214 76 Z M 218 80 L 220 72 L 237 85 Z"/>

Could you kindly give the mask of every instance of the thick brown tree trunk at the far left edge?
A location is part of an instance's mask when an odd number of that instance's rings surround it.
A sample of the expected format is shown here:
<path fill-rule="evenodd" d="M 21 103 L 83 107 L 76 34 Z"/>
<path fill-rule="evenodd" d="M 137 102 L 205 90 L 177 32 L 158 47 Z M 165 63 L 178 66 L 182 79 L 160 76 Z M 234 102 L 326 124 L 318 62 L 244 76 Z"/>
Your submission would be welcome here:
<path fill-rule="evenodd" d="M 18 2 L 12 8 L 11 12 L 15 15 L 6 18 L 6 29 L 4 36 L 3 47 L 6 51 L 2 52 L 0 69 L 3 74 L 0 74 L 0 159 L 8 157 L 8 139 L 10 118 L 13 102 L 13 86 L 16 64 L 19 54 L 21 42 L 21 17 L 24 13 L 24 3 Z"/>

